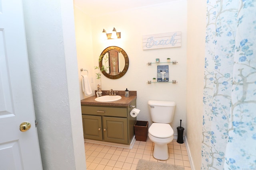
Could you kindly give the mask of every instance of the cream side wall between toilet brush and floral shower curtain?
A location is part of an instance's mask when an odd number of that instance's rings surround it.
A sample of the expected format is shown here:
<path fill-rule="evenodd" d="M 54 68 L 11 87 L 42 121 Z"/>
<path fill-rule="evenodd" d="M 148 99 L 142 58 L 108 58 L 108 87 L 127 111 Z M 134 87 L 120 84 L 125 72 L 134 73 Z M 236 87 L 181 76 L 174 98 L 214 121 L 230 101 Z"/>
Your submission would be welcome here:
<path fill-rule="evenodd" d="M 195 170 L 201 168 L 205 32 L 206 3 L 188 0 L 186 142 Z"/>

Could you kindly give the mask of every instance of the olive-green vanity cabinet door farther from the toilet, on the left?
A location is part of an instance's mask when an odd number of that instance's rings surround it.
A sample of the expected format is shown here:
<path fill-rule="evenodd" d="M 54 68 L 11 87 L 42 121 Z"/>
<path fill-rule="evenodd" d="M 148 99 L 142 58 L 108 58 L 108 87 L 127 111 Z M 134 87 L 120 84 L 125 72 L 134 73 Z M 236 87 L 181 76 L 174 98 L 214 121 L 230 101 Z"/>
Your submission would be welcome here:
<path fill-rule="evenodd" d="M 84 138 L 102 141 L 101 116 L 82 115 Z"/>

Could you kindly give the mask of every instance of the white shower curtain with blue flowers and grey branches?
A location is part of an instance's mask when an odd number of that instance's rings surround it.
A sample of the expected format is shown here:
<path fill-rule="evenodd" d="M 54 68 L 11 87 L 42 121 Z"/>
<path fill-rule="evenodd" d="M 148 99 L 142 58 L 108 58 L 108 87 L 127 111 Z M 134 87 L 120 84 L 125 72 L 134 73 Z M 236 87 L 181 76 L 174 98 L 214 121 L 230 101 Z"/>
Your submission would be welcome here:
<path fill-rule="evenodd" d="M 202 166 L 256 170 L 256 0 L 207 0 Z"/>

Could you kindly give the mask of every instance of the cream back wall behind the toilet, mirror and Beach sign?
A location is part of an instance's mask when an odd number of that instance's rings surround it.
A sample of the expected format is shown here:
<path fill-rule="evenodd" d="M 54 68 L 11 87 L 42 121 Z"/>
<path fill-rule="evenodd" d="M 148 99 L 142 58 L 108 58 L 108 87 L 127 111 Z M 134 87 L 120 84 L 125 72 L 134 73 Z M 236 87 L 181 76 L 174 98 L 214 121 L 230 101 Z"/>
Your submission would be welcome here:
<path fill-rule="evenodd" d="M 109 46 L 121 47 L 129 57 L 129 68 L 122 78 L 112 80 L 102 76 L 102 90 L 136 90 L 137 108 L 141 110 L 137 120 L 149 121 L 149 126 L 151 120 L 148 100 L 175 101 L 177 106 L 171 124 L 174 134 L 177 134 L 176 127 L 180 125 L 180 119 L 183 120 L 182 126 L 186 131 L 186 4 L 186 0 L 178 0 L 92 18 L 94 64 L 91 68 L 98 65 L 98 57 Z M 121 32 L 121 39 L 102 40 L 102 30 L 111 33 L 113 27 Z M 142 35 L 175 31 L 182 32 L 181 47 L 142 50 Z M 170 80 L 177 80 L 178 83 L 146 84 L 148 80 L 156 77 L 157 70 L 156 64 L 148 66 L 146 63 L 154 62 L 156 58 L 166 61 L 167 57 L 178 61 L 178 64 L 170 64 L 169 67 Z"/>

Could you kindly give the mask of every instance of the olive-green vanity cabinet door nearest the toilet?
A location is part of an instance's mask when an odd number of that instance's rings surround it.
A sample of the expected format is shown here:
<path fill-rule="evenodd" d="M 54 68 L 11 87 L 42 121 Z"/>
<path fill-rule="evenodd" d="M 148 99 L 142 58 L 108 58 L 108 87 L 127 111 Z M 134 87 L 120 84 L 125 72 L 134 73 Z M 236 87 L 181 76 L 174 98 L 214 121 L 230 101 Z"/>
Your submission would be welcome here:
<path fill-rule="evenodd" d="M 128 143 L 127 118 L 103 117 L 104 141 Z"/>

